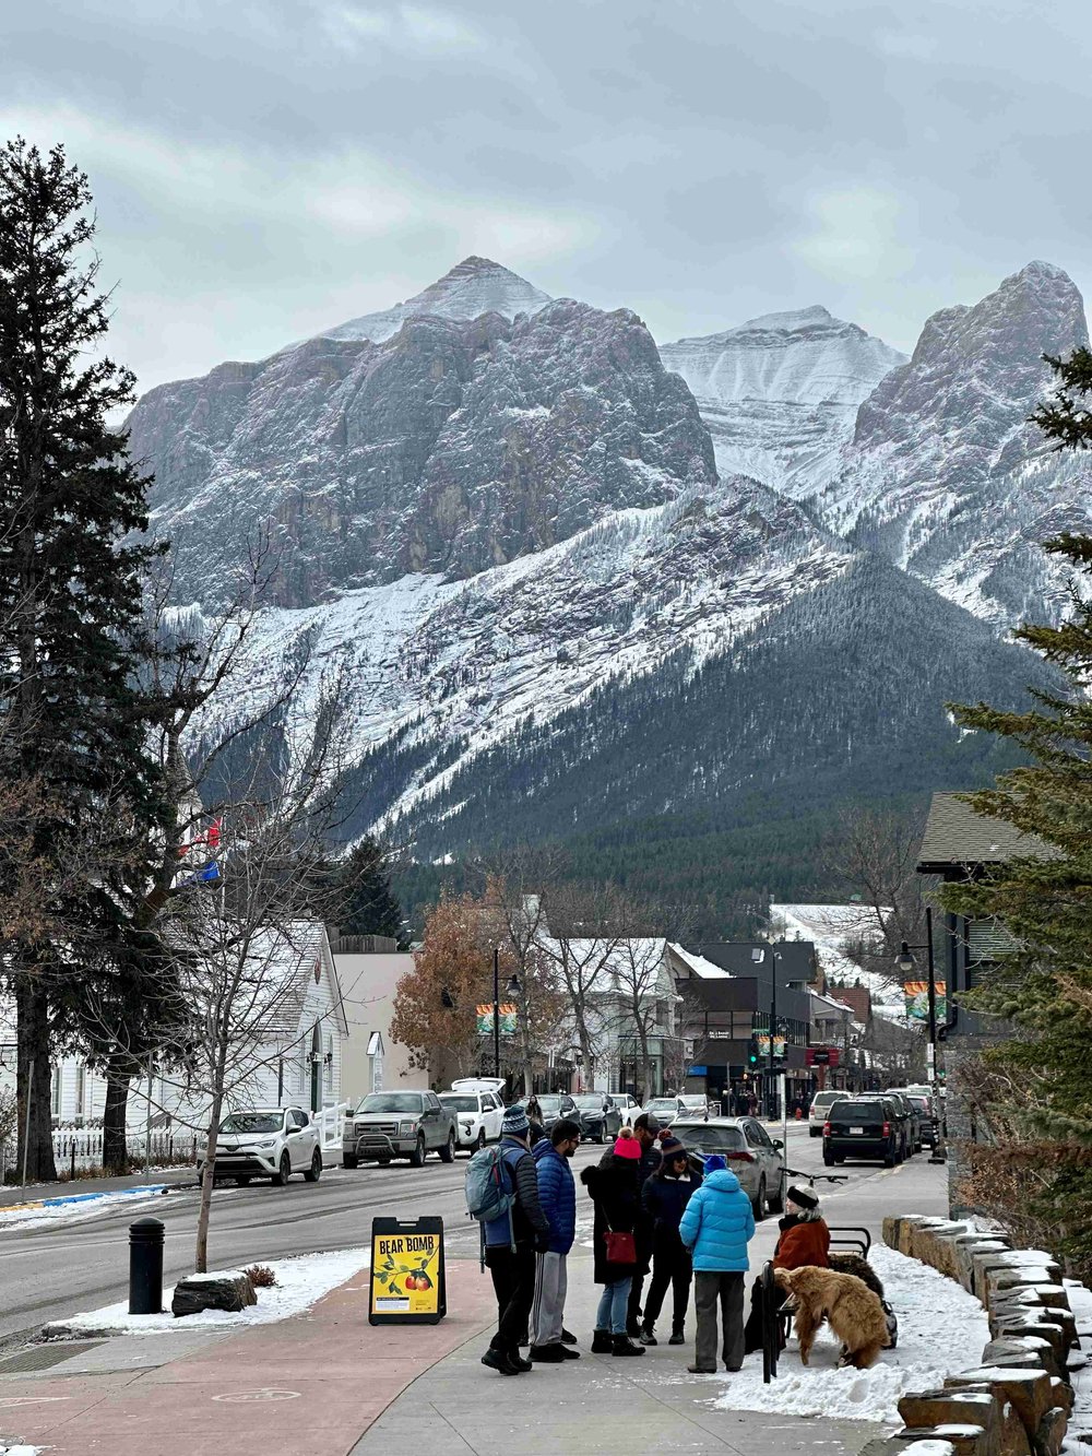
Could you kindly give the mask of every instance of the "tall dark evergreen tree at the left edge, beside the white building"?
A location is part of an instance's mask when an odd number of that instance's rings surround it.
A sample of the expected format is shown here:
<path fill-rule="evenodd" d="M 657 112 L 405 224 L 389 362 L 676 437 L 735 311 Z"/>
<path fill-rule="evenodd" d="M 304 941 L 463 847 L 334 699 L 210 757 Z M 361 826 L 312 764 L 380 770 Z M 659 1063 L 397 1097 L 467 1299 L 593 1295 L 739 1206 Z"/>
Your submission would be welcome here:
<path fill-rule="evenodd" d="M 51 1042 L 79 999 L 89 943 L 93 958 L 121 922 L 111 855 L 89 844 L 114 801 L 132 844 L 163 811 L 135 687 L 154 547 L 127 543 L 147 526 L 146 480 L 125 432 L 108 425 L 134 380 L 99 352 L 108 297 L 89 256 L 89 204 L 61 147 L 42 156 L 16 138 L 0 150 L 0 775 L 33 795 L 42 887 L 38 927 L 32 917 L 4 946 L 4 964 L 32 1178 L 54 1174 Z M 118 885 L 140 874 L 121 868 L 122 847 Z"/>

